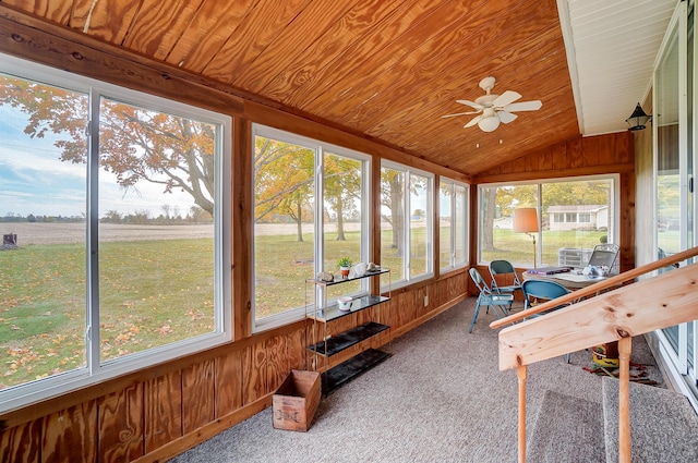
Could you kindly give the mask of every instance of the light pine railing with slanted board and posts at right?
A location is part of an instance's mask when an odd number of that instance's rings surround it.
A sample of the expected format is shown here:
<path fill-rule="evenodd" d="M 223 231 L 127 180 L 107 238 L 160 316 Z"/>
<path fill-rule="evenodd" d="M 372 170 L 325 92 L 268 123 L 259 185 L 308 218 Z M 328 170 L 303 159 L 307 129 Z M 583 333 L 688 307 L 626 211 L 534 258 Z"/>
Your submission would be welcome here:
<path fill-rule="evenodd" d="M 519 462 L 526 462 L 527 366 L 613 341 L 618 342 L 621 370 L 618 461 L 630 462 L 629 366 L 633 337 L 698 319 L 698 265 L 690 264 L 637 282 L 636 279 L 697 255 L 698 247 L 694 247 L 490 324 L 491 328 L 516 324 L 500 332 L 500 369 L 517 369 Z M 567 302 L 574 304 L 522 321 Z"/>

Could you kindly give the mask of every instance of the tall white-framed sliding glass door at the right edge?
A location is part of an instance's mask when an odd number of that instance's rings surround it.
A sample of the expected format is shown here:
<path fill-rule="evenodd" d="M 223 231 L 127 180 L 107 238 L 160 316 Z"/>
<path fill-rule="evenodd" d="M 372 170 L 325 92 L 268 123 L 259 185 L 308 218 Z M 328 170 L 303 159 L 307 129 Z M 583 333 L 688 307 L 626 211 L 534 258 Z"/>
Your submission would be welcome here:
<path fill-rule="evenodd" d="M 653 131 L 657 257 L 695 245 L 694 14 L 681 2 L 654 70 Z M 671 271 L 664 270 L 664 271 Z M 660 333 L 663 352 L 679 375 L 696 382 L 696 322 Z"/>

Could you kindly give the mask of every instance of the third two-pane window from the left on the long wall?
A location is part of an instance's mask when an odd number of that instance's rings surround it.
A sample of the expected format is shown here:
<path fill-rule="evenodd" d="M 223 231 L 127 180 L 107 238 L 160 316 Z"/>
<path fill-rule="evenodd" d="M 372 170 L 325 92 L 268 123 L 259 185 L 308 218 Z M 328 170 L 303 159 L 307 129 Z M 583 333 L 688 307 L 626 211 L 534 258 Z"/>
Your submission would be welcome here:
<path fill-rule="evenodd" d="M 381 167 L 381 265 L 397 284 L 433 276 L 434 176 L 383 161 Z"/>

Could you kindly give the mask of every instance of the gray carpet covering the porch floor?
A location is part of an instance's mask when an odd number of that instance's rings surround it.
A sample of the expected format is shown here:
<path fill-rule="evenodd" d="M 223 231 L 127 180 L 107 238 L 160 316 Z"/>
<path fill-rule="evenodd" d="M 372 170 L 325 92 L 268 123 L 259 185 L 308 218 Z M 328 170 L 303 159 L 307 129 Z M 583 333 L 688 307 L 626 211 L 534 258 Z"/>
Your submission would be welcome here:
<path fill-rule="evenodd" d="M 492 313 L 468 333 L 473 308 L 469 298 L 395 340 L 390 358 L 323 399 L 308 432 L 274 429 L 267 409 L 173 462 L 515 462 L 516 373 L 497 369 Z M 581 368 L 590 364 L 582 351 L 570 365 L 561 356 L 529 368 L 529 442 L 546 391 L 600 406 L 602 380 Z"/>

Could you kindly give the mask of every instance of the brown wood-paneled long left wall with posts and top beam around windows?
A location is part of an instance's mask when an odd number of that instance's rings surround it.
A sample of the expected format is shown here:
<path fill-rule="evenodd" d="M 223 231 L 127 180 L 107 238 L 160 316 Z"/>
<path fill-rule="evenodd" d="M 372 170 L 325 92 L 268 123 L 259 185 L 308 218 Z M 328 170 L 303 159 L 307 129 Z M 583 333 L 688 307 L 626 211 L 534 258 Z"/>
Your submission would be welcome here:
<path fill-rule="evenodd" d="M 200 443 L 269 406 L 272 393 L 292 368 L 305 367 L 305 321 L 251 332 L 252 121 L 348 146 L 374 156 L 373 185 L 381 158 L 436 174 L 462 174 L 371 141 L 246 99 L 174 68 L 32 16 L 0 14 L 0 51 L 221 111 L 234 119 L 232 160 L 233 342 L 155 365 L 0 415 L 2 462 L 161 461 Z M 377 200 L 377 198 L 376 198 Z M 376 215 L 378 207 L 374 208 Z M 380 216 L 376 216 L 380 217 Z M 378 223 L 378 221 L 376 221 Z M 376 226 L 378 227 L 378 226 Z M 380 261 L 380 241 L 372 256 Z M 385 344 L 467 296 L 467 273 L 452 271 L 394 290 L 381 306 L 390 329 L 372 342 Z M 424 296 L 430 296 L 424 306 Z M 357 316 L 356 321 L 370 315 Z M 272 427 L 272 423 L 269 423 Z"/>

